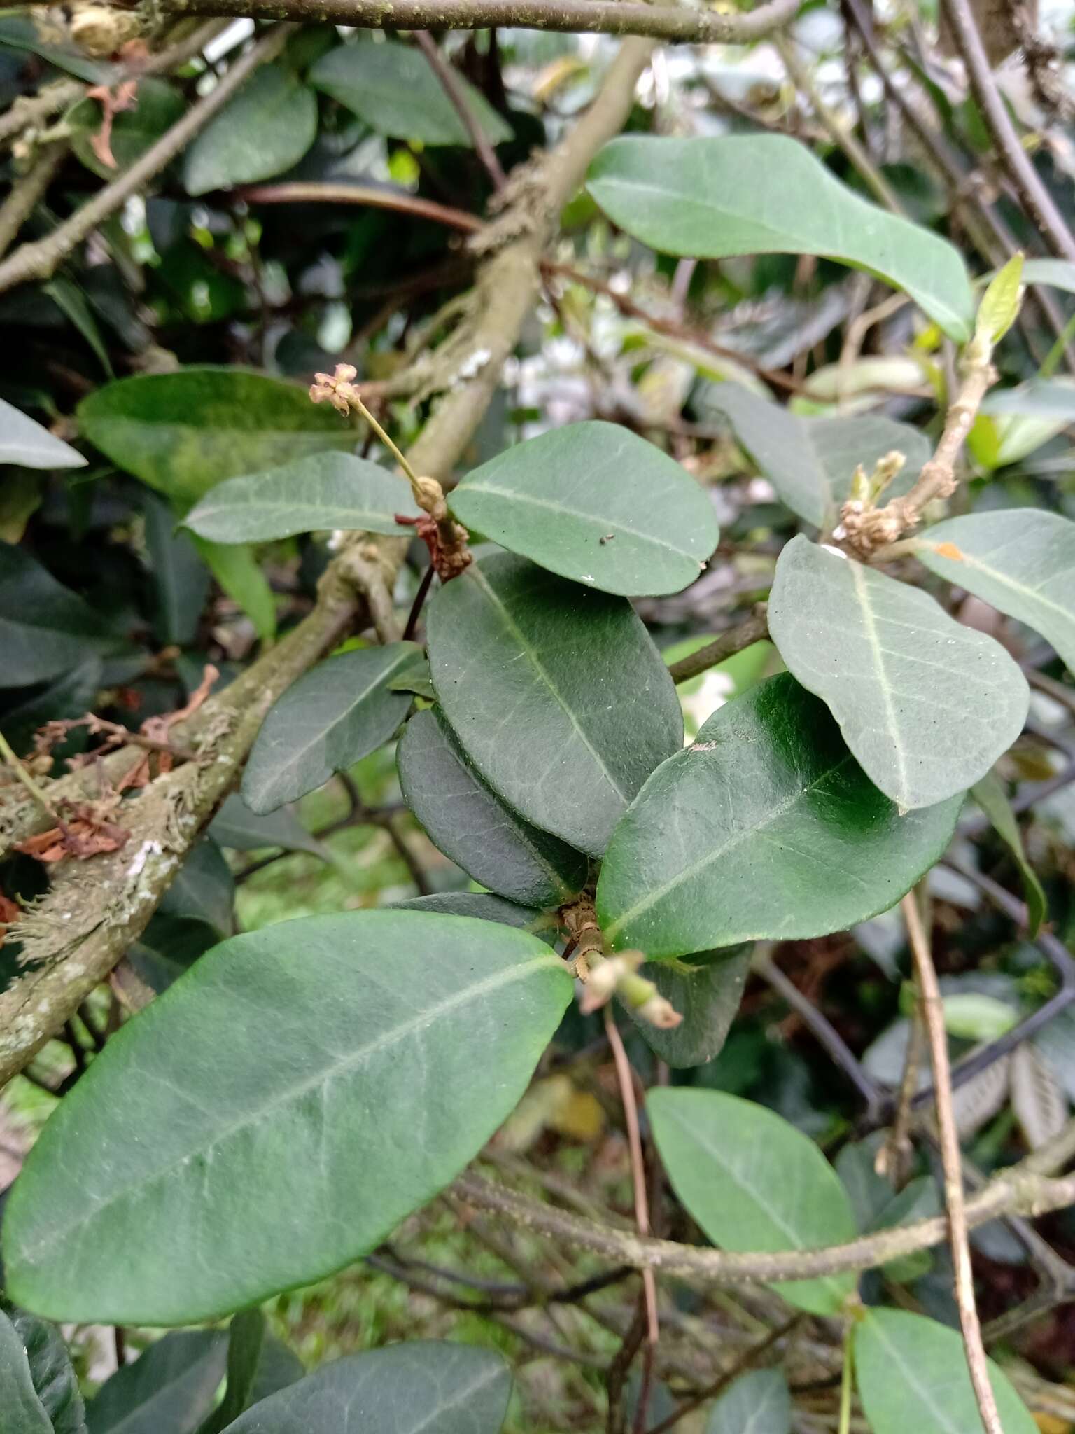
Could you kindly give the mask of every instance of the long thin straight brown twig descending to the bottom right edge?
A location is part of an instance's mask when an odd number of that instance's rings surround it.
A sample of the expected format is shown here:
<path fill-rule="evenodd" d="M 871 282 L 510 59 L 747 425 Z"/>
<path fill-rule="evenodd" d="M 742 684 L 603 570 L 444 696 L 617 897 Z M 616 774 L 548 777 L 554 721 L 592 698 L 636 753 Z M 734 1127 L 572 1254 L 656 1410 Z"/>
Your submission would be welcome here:
<path fill-rule="evenodd" d="M 909 892 L 902 903 L 907 938 L 914 956 L 914 974 L 919 985 L 919 1005 L 929 1040 L 933 1084 L 936 1087 L 937 1131 L 940 1134 L 940 1164 L 945 1174 L 945 1206 L 952 1243 L 952 1266 L 955 1271 L 956 1306 L 959 1326 L 963 1331 L 970 1382 L 975 1388 L 978 1411 L 986 1434 L 1003 1434 L 1000 1415 L 996 1411 L 993 1387 L 989 1382 L 982 1325 L 975 1304 L 975 1272 L 970 1268 L 970 1238 L 963 1200 L 963 1163 L 959 1152 L 959 1131 L 952 1108 L 952 1073 L 947 1058 L 947 1031 L 945 1030 L 945 1007 L 929 948 L 929 936 L 919 912 L 917 896 Z"/>

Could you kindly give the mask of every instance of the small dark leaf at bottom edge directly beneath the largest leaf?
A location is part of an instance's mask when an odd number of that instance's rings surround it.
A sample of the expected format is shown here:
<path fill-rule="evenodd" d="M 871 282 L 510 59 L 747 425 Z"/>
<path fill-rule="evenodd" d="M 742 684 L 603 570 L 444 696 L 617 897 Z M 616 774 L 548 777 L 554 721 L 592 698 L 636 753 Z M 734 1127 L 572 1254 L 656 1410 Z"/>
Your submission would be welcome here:
<path fill-rule="evenodd" d="M 195 1434 L 214 1405 L 226 1358 L 224 1331 L 165 1335 L 90 1400 L 89 1434 Z"/>

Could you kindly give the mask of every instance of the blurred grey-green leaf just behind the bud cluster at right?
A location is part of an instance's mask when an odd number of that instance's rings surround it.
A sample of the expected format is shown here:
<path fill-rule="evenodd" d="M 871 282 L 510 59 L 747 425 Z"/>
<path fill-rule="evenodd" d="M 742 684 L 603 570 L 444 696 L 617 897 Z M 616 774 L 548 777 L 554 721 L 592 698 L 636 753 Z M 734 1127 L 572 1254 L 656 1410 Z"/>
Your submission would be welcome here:
<path fill-rule="evenodd" d="M 807 419 L 738 383 L 714 386 L 708 399 L 731 422 L 735 440 L 775 488 L 793 513 L 814 528 L 836 522 L 851 495 L 851 476 L 861 463 L 867 475 L 886 453 L 907 459 L 886 495 L 897 498 L 914 483 L 932 455 L 919 429 L 892 419 Z"/>

